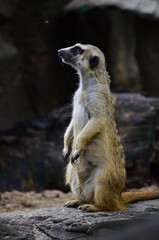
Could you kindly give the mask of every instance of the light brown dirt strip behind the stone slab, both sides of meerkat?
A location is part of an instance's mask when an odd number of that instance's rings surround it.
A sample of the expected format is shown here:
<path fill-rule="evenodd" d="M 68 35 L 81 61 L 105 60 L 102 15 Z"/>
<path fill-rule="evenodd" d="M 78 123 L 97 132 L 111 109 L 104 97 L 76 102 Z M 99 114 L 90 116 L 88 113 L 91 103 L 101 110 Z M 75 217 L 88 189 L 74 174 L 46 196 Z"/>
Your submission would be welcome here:
<path fill-rule="evenodd" d="M 159 187 L 152 185 L 140 189 L 129 189 L 129 191 L 159 191 Z M 1 193 L 0 213 L 34 208 L 62 206 L 65 202 L 72 198 L 72 193 L 63 193 L 60 190 L 44 190 L 40 193 L 34 191 L 4 192 Z"/>

